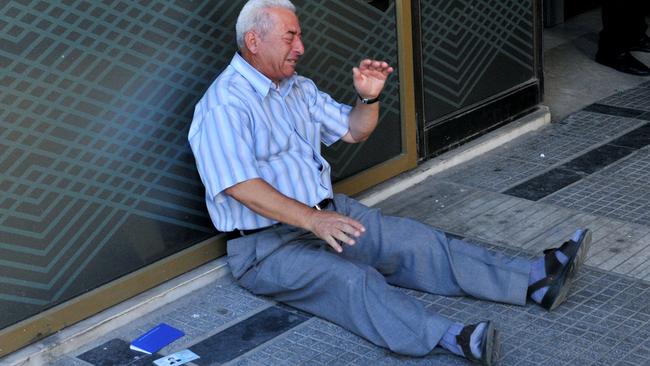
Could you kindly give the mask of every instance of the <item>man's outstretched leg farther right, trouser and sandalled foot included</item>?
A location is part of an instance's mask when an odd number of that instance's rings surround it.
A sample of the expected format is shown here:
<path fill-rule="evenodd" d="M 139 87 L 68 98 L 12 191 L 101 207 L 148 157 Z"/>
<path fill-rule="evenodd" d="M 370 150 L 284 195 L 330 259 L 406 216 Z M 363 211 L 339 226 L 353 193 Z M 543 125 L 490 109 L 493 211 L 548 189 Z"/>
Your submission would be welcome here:
<path fill-rule="evenodd" d="M 577 230 L 561 247 L 529 261 L 449 238 L 410 219 L 384 216 L 345 196 L 336 202 L 338 211 L 368 227 L 344 256 L 377 268 L 391 284 L 441 295 L 523 305 L 530 293 L 553 310 L 566 300 L 591 243 L 588 230 Z"/>

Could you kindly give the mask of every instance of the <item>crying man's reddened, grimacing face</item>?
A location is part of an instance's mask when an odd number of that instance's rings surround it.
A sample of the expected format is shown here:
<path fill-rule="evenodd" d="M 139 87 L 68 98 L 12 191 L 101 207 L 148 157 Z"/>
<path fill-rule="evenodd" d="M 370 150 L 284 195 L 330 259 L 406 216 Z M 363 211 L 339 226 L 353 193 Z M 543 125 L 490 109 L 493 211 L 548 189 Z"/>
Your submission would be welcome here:
<path fill-rule="evenodd" d="M 274 25 L 258 38 L 255 55 L 256 68 L 266 77 L 279 83 L 296 71 L 298 59 L 305 52 L 298 17 L 288 9 L 267 10 Z"/>

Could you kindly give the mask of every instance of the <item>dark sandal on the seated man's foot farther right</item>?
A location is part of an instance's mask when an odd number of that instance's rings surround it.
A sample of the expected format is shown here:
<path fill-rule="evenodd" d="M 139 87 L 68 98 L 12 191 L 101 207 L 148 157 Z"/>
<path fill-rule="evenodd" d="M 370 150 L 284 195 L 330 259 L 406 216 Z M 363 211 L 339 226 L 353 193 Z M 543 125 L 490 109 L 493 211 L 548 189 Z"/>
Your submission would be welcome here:
<path fill-rule="evenodd" d="M 547 310 L 553 310 L 562 304 L 569 295 L 571 282 L 585 262 L 590 245 L 591 231 L 585 229 L 577 242 L 569 240 L 559 248 L 546 249 L 544 268 L 547 276 L 528 286 L 528 296 L 541 288 L 548 287 L 540 305 Z M 556 250 L 568 258 L 566 265 L 557 259 Z"/>

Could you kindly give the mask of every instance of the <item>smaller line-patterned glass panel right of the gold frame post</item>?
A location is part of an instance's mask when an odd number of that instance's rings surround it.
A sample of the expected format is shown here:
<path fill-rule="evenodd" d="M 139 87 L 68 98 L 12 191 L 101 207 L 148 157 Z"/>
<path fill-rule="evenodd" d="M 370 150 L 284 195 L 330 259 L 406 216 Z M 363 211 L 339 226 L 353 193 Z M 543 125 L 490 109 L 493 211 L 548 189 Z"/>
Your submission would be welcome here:
<path fill-rule="evenodd" d="M 421 0 L 420 8 L 427 127 L 536 77 L 531 0 Z"/>

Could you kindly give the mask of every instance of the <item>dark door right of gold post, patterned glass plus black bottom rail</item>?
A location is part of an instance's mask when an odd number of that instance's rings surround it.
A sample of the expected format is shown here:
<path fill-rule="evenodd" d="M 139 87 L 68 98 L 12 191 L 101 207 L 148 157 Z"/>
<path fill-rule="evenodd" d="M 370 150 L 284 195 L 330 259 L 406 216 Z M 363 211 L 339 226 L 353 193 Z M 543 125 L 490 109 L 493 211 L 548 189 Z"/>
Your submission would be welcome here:
<path fill-rule="evenodd" d="M 421 157 L 541 101 L 539 6 L 535 0 L 414 2 Z"/>

